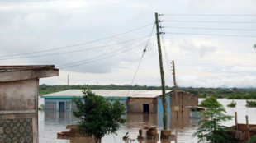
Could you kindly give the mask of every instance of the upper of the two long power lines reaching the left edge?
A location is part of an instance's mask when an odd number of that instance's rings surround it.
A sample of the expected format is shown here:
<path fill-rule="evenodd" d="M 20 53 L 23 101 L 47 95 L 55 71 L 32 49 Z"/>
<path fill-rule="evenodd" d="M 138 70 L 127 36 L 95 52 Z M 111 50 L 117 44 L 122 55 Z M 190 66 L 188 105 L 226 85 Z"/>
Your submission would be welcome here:
<path fill-rule="evenodd" d="M 102 39 L 96 39 L 96 40 L 92 40 L 92 41 L 88 41 L 88 42 L 84 42 L 84 43 L 81 43 L 81 44 L 72 44 L 72 45 L 68 45 L 68 46 L 63 46 L 63 47 L 59 47 L 59 48 L 52 48 L 52 49 L 46 49 L 46 50 L 40 50 L 40 51 L 36 51 L 36 52 L 29 52 L 29 53 L 18 53 L 18 54 L 12 54 L 12 55 L 5 55 L 5 56 L 0 56 L 0 58 L 4 58 L 4 57 L 14 57 L 14 56 L 20 56 L 20 55 L 24 55 L 24 54 L 32 54 L 32 53 L 45 53 L 45 52 L 49 52 L 49 51 L 55 51 L 55 50 L 59 50 L 59 49 L 63 49 L 63 48 L 71 48 L 71 47 L 76 47 L 76 46 L 81 46 L 83 44 L 92 44 L 92 43 L 95 43 L 97 41 L 101 41 L 101 40 L 104 40 L 104 39 L 111 39 L 111 38 L 114 38 L 116 36 L 120 36 L 120 35 L 126 35 L 127 33 L 130 33 L 130 32 L 133 32 L 133 31 L 136 31 L 136 30 L 140 30 L 140 29 L 143 29 L 149 25 L 152 25 L 153 23 L 150 23 L 148 25 L 144 25 L 144 26 L 141 26 L 139 28 L 136 28 L 136 29 L 133 29 L 133 30 L 128 30 L 124 33 L 121 33 L 121 34 L 118 34 L 118 35 L 111 35 L 109 37 L 105 37 L 105 38 L 102 38 Z"/>

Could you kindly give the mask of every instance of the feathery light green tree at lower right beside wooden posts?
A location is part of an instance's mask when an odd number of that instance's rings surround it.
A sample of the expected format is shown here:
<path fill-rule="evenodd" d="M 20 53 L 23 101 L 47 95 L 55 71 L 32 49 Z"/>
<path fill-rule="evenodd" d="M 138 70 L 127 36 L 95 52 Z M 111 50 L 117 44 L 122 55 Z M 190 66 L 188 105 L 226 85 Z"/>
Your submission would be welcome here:
<path fill-rule="evenodd" d="M 208 111 L 203 111 L 202 115 L 205 118 L 198 122 L 197 132 L 192 135 L 193 137 L 198 137 L 198 142 L 230 142 L 232 136 L 227 134 L 226 131 L 230 131 L 231 128 L 220 125 L 221 122 L 231 120 L 232 118 L 229 115 L 225 115 L 224 108 L 209 108 Z"/>

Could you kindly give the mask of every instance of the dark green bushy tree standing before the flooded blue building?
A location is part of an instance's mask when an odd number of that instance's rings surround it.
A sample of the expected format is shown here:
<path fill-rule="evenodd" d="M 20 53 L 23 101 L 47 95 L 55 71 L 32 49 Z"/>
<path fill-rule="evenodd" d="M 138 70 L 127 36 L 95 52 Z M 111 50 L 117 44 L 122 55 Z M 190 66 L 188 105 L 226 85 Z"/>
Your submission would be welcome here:
<path fill-rule="evenodd" d="M 83 100 L 73 97 L 72 101 L 78 110 L 73 111 L 78 122 L 78 131 L 94 136 L 95 142 L 101 142 L 103 136 L 116 133 L 120 124 L 126 122 L 126 108 L 117 99 L 111 102 L 104 97 L 94 94 L 91 90 L 83 91 Z"/>

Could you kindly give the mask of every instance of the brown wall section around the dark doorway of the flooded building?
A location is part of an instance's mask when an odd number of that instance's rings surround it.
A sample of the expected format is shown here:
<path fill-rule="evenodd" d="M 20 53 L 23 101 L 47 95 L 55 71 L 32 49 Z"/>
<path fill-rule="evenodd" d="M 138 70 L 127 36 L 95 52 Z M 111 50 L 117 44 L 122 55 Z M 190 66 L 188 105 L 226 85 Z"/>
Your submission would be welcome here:
<path fill-rule="evenodd" d="M 149 113 L 157 113 L 156 98 L 132 98 L 127 99 L 127 113 L 143 113 L 143 104 L 149 104 Z"/>

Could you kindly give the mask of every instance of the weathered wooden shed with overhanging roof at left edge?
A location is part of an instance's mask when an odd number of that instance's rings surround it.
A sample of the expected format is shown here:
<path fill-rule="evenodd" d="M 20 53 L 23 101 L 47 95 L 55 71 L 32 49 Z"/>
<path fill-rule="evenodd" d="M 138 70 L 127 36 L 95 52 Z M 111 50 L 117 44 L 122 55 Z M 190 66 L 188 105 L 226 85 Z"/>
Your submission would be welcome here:
<path fill-rule="evenodd" d="M 38 142 L 39 78 L 50 76 L 53 65 L 0 66 L 0 142 Z"/>

